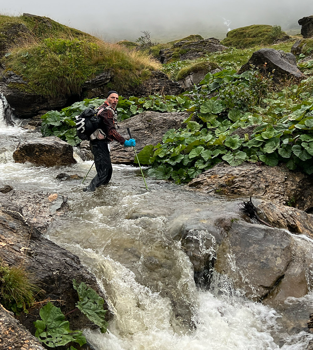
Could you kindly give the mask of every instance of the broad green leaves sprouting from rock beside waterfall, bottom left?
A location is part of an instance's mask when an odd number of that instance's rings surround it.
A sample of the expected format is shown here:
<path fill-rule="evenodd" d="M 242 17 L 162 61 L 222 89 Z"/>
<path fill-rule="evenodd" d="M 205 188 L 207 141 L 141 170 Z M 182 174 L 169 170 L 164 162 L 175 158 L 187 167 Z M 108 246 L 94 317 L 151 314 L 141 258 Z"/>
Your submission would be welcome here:
<path fill-rule="evenodd" d="M 77 309 L 97 324 L 102 333 L 105 333 L 107 331 L 105 320 L 107 310 L 103 309 L 104 300 L 92 288 L 88 288 L 84 282 L 77 285 L 76 280 L 73 279 L 73 287 L 78 293 Z M 66 315 L 51 302 L 42 307 L 39 314 L 41 320 L 34 322 L 36 327 L 35 336 L 49 348 L 56 348 L 69 343 L 78 343 L 82 346 L 86 343 L 83 332 L 70 330 L 70 323 L 65 320 Z M 71 346 L 71 350 L 76 349 Z"/>

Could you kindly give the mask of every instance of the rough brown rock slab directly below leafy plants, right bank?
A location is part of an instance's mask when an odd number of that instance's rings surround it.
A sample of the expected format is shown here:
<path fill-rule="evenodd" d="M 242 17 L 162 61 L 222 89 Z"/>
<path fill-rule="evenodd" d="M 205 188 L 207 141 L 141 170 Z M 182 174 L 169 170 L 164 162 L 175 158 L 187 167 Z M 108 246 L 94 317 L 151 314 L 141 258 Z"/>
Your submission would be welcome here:
<path fill-rule="evenodd" d="M 288 204 L 311 211 L 313 208 L 313 179 L 285 166 L 268 167 L 242 163 L 230 167 L 219 163 L 193 179 L 189 186 L 206 193 L 228 196 L 253 196 L 277 204 Z"/>

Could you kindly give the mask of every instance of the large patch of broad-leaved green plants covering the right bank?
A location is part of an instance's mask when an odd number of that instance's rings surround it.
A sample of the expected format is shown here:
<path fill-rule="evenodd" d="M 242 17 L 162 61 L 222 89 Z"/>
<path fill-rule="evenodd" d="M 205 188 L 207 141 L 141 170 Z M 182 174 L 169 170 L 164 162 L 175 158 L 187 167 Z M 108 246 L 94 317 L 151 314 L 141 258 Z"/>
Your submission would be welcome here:
<path fill-rule="evenodd" d="M 313 70 L 307 75 L 299 85 L 289 82 L 279 90 L 258 71 L 208 73 L 192 92 L 193 113 L 184 121 L 186 127 L 169 130 L 158 145 L 145 146 L 138 153 L 140 163 L 151 167 L 150 176 L 176 183 L 221 161 L 230 166 L 285 163 L 312 174 Z M 216 96 L 208 99 L 212 92 Z M 244 133 L 249 126 L 255 126 L 253 133 Z"/>

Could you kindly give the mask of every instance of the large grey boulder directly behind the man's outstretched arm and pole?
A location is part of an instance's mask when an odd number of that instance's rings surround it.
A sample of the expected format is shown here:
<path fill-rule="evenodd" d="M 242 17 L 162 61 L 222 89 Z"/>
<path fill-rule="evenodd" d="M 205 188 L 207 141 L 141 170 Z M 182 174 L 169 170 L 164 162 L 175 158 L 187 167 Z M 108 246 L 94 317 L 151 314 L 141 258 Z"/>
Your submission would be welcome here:
<path fill-rule="evenodd" d="M 146 145 L 157 145 L 162 141 L 166 131 L 179 128 L 182 121 L 188 116 L 187 112 L 143 112 L 119 123 L 119 133 L 128 139 L 127 128 L 129 127 L 131 136 L 136 140 L 136 152 L 138 153 Z M 113 163 L 132 164 L 134 162 L 133 147 L 125 148 L 117 142 L 112 142 L 111 159 Z"/>

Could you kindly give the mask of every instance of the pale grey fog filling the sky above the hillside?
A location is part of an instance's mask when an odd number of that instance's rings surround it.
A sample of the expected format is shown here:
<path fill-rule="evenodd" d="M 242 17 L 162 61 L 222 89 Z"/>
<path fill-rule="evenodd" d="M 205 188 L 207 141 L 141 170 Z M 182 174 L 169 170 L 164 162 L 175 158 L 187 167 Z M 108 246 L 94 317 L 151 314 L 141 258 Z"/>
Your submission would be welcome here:
<path fill-rule="evenodd" d="M 222 39 L 229 29 L 252 24 L 280 25 L 296 34 L 301 29 L 298 20 L 313 15 L 313 1 L 2 0 L 0 13 L 46 16 L 106 41 L 135 41 L 141 31 L 149 31 L 151 40 L 166 42 L 189 34 Z"/>

